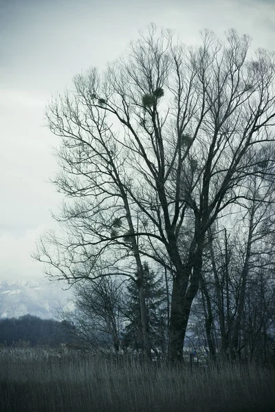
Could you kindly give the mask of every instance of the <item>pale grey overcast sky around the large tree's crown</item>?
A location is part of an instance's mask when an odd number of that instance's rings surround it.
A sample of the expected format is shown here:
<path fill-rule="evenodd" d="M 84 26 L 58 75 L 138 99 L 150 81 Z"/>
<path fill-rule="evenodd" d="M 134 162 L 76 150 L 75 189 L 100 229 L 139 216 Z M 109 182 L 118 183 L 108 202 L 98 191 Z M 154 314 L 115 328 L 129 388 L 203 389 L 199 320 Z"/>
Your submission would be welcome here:
<path fill-rule="evenodd" d="M 61 201 L 47 183 L 58 144 L 43 127 L 51 93 L 104 67 L 151 22 L 187 44 L 201 28 L 235 27 L 253 48 L 275 45 L 275 0 L 0 0 L 0 280 L 43 276 L 30 252 Z"/>

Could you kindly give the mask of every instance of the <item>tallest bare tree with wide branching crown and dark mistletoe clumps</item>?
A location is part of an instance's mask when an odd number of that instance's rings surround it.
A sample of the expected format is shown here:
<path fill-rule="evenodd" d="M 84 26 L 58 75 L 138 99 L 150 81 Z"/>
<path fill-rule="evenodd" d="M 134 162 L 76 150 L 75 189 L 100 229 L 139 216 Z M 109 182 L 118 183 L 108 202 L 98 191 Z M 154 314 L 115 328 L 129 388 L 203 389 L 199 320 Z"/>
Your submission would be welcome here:
<path fill-rule="evenodd" d="M 48 110 L 63 141 L 54 183 L 74 201 L 59 217 L 65 237 L 41 240 L 36 258 L 73 281 L 136 266 L 148 357 L 142 256 L 172 268 L 168 352 L 181 359 L 206 233 L 245 196 L 246 176 L 260 173 L 252 148 L 273 144 L 274 55 L 249 59 L 248 36 L 234 30 L 225 43 L 208 31 L 201 40 L 186 48 L 151 25 Z M 256 164 L 270 160 L 261 155 Z"/>

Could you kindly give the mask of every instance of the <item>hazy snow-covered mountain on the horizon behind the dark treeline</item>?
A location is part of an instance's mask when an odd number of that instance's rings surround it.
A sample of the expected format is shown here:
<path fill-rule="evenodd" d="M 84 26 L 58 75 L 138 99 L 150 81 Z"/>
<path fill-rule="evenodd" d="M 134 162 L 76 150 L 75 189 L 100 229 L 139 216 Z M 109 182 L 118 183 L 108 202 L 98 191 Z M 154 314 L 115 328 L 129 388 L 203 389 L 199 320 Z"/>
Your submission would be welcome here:
<path fill-rule="evenodd" d="M 56 317 L 56 309 L 66 306 L 71 297 L 63 285 L 39 281 L 0 282 L 0 318 L 32 314 L 42 319 Z"/>

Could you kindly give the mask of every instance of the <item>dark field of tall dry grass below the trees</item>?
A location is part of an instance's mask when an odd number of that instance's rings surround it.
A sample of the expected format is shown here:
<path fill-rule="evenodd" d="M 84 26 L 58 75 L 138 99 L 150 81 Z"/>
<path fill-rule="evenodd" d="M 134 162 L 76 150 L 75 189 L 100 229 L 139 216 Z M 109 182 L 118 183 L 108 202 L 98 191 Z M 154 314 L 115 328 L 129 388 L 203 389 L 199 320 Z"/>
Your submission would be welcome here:
<path fill-rule="evenodd" d="M 94 356 L 0 356 L 3 412 L 255 411 L 275 408 L 274 368 L 169 367 Z"/>

